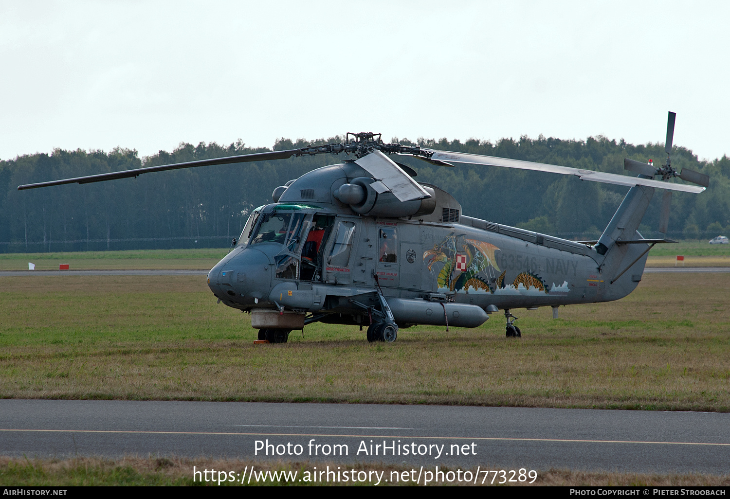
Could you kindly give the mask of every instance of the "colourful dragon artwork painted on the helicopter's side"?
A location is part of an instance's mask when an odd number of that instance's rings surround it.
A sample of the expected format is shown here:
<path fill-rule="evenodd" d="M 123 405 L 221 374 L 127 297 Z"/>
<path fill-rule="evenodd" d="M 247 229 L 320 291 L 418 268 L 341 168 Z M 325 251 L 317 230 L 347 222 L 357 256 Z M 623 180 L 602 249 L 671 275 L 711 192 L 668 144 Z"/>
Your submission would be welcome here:
<path fill-rule="evenodd" d="M 504 282 L 506 271 L 497 265 L 495 252 L 499 247 L 486 241 L 468 239 L 464 234 L 450 233 L 446 238 L 423 253 L 423 260 L 429 271 L 438 270 L 439 290 L 458 293 L 469 292 L 499 293 L 499 290 L 529 290 L 548 293 L 545 282 L 531 271 L 521 272 L 512 283 Z M 501 272 L 501 274 L 499 274 Z"/>

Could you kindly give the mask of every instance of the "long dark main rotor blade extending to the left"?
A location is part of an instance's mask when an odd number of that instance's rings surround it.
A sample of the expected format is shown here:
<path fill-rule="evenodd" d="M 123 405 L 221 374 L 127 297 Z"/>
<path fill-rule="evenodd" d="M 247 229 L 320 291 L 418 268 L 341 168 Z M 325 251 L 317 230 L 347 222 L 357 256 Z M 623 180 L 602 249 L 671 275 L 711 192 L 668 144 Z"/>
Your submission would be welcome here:
<path fill-rule="evenodd" d="M 87 177 L 75 177 L 73 179 L 52 180 L 50 182 L 38 182 L 36 184 L 19 185 L 18 190 L 35 189 L 37 187 L 49 187 L 51 185 L 88 184 L 91 182 L 104 182 L 104 180 L 127 179 L 129 177 L 137 177 L 138 175 L 151 173 L 153 171 L 195 168 L 196 166 L 227 165 L 229 163 L 247 163 L 248 161 L 286 159 L 291 158 L 291 156 L 295 152 L 299 152 L 299 149 L 291 149 L 286 151 L 255 152 L 253 154 L 227 156 L 226 158 L 188 161 L 186 163 L 174 163 L 172 165 L 150 166 L 148 168 L 138 168 L 135 170 L 112 171 L 112 173 L 108 174 L 88 175 Z"/>

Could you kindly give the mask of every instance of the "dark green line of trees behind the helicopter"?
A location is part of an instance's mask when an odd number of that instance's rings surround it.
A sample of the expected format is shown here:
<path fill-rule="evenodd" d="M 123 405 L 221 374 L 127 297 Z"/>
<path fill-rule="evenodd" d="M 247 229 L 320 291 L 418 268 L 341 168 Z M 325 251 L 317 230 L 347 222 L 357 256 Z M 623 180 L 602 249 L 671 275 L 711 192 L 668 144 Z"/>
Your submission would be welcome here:
<path fill-rule="evenodd" d="M 340 142 L 342 137 L 312 142 Z M 398 139 L 393 139 L 398 141 Z M 626 174 L 623 158 L 661 165 L 663 144 L 634 145 L 603 136 L 561 140 L 539 136 L 497 142 L 419 139 L 441 150 L 537 161 Z M 280 139 L 273 150 L 310 142 Z M 181 169 L 85 185 L 18 191 L 21 184 L 82 177 L 183 161 L 266 151 L 239 141 L 222 146 L 180 144 L 140 158 L 136 150 L 54 150 L 0 161 L 0 252 L 225 247 L 237 237 L 250 210 L 271 202 L 272 190 L 290 179 L 344 158 L 317 155 L 288 160 Z M 576 177 L 490 166 L 432 166 L 399 157 L 417 179 L 438 185 L 461 202 L 464 214 L 568 239 L 592 238 L 607 225 L 628 187 L 581 182 Z M 674 193 L 669 236 L 698 239 L 730 232 L 730 158 L 701 161 L 675 147 L 672 166 L 710 175 L 696 195 Z M 655 196 L 640 231 L 656 236 L 661 196 Z"/>

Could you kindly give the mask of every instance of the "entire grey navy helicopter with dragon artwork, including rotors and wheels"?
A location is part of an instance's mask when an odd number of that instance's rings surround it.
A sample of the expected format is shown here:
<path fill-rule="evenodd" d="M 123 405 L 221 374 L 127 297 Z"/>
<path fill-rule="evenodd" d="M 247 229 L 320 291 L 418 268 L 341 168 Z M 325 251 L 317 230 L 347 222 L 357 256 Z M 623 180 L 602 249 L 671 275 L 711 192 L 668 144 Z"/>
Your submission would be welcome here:
<path fill-rule="evenodd" d="M 207 274 L 218 303 L 249 312 L 258 340 L 285 343 L 313 322 L 366 328 L 367 341 L 395 341 L 414 325 L 475 328 L 504 311 L 505 336 L 520 337 L 514 309 L 534 310 L 623 298 L 642 279 L 649 250 L 666 239 L 672 191 L 701 193 L 709 177 L 672 168 L 675 113 L 669 112 L 666 163 L 626 158 L 637 177 L 429 149 L 381 134 L 347 133 L 345 142 L 196 160 L 20 185 L 18 190 L 85 184 L 141 174 L 306 155 L 346 156 L 276 187 L 272 203 L 250 213 L 234 248 Z M 548 171 L 625 185 L 623 198 L 596 241 L 569 241 L 461 212 L 445 190 L 417 182 L 395 159 Z M 659 177 L 659 178 L 656 178 Z M 695 185 L 668 182 L 683 179 Z M 664 189 L 659 233 L 638 232 L 656 189 Z"/>

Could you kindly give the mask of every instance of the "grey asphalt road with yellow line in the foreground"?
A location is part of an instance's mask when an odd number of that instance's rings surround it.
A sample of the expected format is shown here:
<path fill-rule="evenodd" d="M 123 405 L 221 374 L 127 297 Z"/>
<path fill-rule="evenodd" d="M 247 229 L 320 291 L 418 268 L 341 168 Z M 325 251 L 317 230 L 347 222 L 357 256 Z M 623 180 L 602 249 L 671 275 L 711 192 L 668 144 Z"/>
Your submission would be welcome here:
<path fill-rule="evenodd" d="M 266 459 L 267 440 L 274 445 L 269 447 L 268 458 L 284 460 L 726 474 L 730 465 L 730 414 L 376 404 L 0 400 L 0 454 L 4 455 L 174 454 Z M 264 448 L 258 454 L 256 441 L 263 442 L 260 446 Z M 382 445 L 383 441 L 388 446 L 387 455 L 383 455 L 382 446 L 373 447 L 377 455 L 371 454 L 370 444 Z M 390 449 L 393 441 L 396 455 Z M 321 446 L 316 447 L 318 444 Z M 346 444 L 347 454 L 323 455 L 331 452 L 334 444 Z M 363 445 L 367 453 L 362 452 Z M 272 456 L 277 449 L 284 454 Z M 439 449 L 441 455 L 437 457 Z"/>

